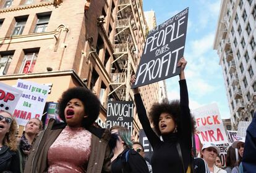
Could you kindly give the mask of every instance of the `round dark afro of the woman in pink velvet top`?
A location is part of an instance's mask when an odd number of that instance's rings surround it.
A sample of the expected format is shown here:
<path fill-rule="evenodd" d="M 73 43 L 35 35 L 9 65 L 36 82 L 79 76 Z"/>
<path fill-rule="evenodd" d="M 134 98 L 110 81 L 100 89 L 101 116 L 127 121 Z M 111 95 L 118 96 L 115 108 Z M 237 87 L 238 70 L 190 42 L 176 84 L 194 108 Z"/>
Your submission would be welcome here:
<path fill-rule="evenodd" d="M 83 103 L 85 108 L 85 114 L 88 115 L 87 118 L 83 118 L 83 127 L 92 126 L 92 124 L 98 118 L 100 113 L 100 100 L 92 93 L 89 89 L 85 87 L 73 87 L 67 89 L 63 92 L 61 99 L 59 99 L 59 117 L 66 123 L 64 111 L 67 103 L 71 99 L 79 99 Z"/>

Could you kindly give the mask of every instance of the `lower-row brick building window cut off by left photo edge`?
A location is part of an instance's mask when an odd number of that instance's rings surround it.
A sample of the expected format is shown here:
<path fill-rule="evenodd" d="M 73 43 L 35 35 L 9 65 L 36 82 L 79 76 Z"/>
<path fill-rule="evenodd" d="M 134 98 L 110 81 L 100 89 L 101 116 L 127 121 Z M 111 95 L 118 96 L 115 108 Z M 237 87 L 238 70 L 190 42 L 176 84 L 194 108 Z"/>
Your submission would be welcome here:
<path fill-rule="evenodd" d="M 14 51 L 0 52 L 0 76 L 7 74 Z"/>

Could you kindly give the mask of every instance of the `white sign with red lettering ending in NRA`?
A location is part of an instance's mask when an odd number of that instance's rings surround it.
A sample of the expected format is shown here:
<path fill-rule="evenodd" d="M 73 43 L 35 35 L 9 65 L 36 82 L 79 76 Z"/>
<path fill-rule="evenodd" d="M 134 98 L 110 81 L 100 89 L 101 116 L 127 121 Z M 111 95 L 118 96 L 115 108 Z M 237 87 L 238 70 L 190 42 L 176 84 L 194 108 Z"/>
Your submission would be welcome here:
<path fill-rule="evenodd" d="M 192 111 L 201 143 L 228 143 L 223 122 L 216 103 Z"/>

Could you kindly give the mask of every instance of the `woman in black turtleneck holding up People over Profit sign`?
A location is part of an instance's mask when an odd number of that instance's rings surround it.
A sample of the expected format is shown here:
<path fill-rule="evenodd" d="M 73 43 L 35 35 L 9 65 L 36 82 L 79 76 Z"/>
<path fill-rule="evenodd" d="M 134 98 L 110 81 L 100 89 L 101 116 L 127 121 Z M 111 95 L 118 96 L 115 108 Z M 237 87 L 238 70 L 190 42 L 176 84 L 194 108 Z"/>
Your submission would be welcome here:
<path fill-rule="evenodd" d="M 155 131 L 161 135 L 163 141 L 151 129 L 139 89 L 134 89 L 134 99 L 140 123 L 142 123 L 145 134 L 153 147 L 151 164 L 154 173 L 187 172 L 187 169 L 190 172 L 191 169 L 192 131 L 189 97 L 184 74 L 186 64 L 187 62 L 183 57 L 177 63 L 177 66 L 181 66 L 181 74 L 179 74 L 181 101 L 169 102 L 166 99 L 162 103 L 155 103 L 150 110 L 150 118 Z M 131 82 L 135 82 L 135 76 L 132 76 Z"/>

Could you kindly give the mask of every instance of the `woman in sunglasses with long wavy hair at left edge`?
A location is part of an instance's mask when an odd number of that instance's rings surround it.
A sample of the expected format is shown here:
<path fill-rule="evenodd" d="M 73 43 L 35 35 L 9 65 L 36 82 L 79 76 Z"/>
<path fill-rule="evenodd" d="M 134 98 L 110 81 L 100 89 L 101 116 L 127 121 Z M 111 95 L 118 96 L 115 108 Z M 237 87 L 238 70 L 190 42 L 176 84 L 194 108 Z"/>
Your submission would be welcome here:
<path fill-rule="evenodd" d="M 19 173 L 17 123 L 7 111 L 0 110 L 0 172 Z"/>

